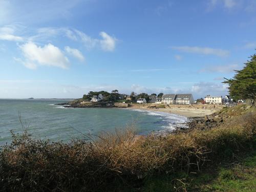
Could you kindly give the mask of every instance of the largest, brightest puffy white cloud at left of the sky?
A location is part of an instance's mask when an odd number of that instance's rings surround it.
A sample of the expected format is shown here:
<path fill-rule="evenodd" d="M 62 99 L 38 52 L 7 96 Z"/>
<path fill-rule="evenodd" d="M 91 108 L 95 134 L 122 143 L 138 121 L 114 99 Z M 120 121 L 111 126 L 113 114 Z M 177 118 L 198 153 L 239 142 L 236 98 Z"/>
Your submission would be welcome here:
<path fill-rule="evenodd" d="M 20 50 L 25 57 L 23 64 L 29 69 L 35 69 L 37 65 L 67 69 L 70 64 L 69 59 L 61 50 L 52 44 L 39 47 L 34 42 L 27 42 L 20 46 Z"/>

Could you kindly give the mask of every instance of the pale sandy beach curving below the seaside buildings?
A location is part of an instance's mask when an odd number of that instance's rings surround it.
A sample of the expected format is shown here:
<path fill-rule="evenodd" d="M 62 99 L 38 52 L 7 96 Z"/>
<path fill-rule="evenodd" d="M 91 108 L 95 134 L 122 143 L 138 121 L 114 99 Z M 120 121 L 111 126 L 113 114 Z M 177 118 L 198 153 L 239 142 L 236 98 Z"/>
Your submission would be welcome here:
<path fill-rule="evenodd" d="M 139 110 L 148 110 L 148 111 L 160 111 L 165 113 L 172 113 L 181 115 L 184 117 L 203 117 L 205 115 L 210 115 L 214 112 L 217 112 L 223 108 L 223 105 L 217 105 L 216 109 L 213 109 L 212 105 L 169 105 L 165 108 L 150 108 L 151 105 L 144 104 L 132 104 L 127 108 L 130 109 L 139 109 Z M 205 109 L 202 109 L 204 107 Z"/>

